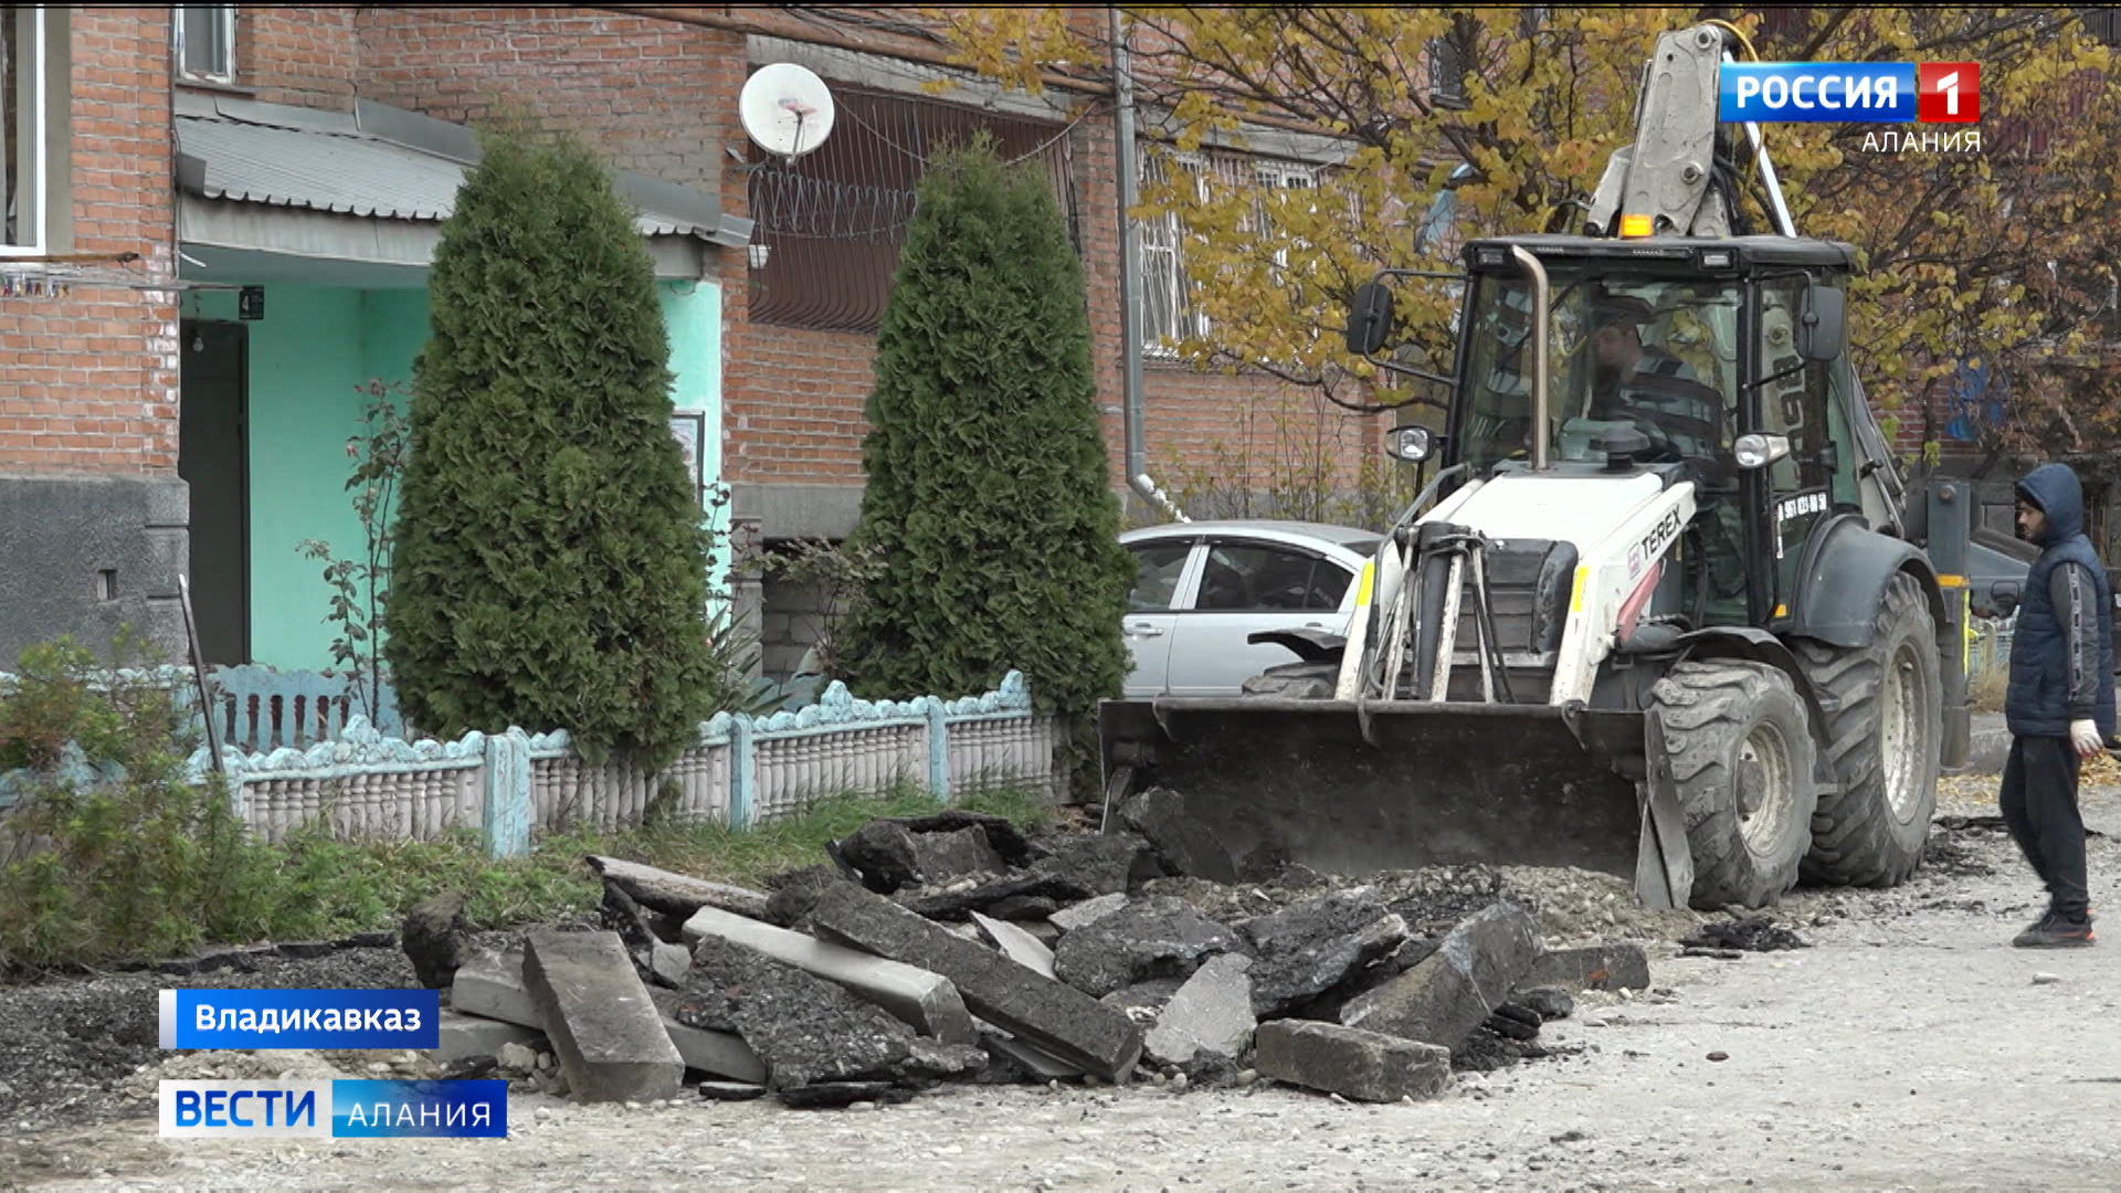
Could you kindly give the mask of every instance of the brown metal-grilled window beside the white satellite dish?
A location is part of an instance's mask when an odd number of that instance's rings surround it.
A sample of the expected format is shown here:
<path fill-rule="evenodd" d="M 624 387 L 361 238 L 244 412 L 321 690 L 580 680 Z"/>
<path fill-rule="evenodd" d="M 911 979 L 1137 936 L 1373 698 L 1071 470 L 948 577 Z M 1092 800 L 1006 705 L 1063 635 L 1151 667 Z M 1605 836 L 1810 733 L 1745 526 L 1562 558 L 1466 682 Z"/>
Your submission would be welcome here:
<path fill-rule="evenodd" d="M 1003 159 L 1046 170 L 1082 253 L 1067 127 L 838 83 L 831 91 L 838 115 L 823 146 L 793 166 L 759 153 L 751 168 L 753 323 L 874 333 L 921 172 L 982 129 Z"/>

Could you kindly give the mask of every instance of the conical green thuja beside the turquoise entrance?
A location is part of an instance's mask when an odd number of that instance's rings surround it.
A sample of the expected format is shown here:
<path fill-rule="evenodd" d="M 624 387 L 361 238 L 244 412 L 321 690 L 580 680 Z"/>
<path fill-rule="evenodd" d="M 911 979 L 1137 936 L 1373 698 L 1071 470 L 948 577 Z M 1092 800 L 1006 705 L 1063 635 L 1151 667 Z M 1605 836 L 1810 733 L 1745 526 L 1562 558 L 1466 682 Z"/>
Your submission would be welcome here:
<path fill-rule="evenodd" d="M 386 609 L 405 715 L 666 762 L 732 677 L 655 278 L 609 172 L 573 140 L 488 138 L 428 306 Z"/>

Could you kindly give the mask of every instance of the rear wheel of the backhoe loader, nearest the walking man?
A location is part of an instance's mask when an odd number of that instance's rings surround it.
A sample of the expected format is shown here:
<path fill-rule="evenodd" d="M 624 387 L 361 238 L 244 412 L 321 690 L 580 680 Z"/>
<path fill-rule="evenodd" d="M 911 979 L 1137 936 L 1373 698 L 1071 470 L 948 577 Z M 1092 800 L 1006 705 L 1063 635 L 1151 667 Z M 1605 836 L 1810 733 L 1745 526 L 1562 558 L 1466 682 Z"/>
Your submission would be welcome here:
<path fill-rule="evenodd" d="M 1943 679 L 1936 618 L 1913 575 L 1886 586 L 1871 645 L 1792 641 L 1820 707 L 1839 792 L 1811 815 L 1805 881 L 1890 887 L 1922 866 L 1936 813 Z"/>

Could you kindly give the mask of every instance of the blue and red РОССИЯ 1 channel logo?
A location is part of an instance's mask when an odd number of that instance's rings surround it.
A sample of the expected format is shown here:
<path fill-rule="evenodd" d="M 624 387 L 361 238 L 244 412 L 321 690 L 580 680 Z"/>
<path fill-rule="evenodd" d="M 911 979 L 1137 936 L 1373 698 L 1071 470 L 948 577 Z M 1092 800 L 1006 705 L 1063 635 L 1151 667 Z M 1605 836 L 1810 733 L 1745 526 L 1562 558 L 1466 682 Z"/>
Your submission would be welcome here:
<path fill-rule="evenodd" d="M 1981 119 L 1975 62 L 1726 62 L 1716 89 L 1720 121 Z"/>

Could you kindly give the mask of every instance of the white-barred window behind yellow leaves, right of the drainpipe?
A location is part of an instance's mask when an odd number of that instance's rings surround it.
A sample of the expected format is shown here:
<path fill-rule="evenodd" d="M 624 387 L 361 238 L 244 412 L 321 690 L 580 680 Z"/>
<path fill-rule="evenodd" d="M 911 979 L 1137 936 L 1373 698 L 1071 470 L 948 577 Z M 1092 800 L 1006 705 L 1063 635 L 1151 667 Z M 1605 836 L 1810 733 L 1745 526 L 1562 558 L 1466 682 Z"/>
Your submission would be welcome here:
<path fill-rule="evenodd" d="M 1251 187 L 1256 202 L 1241 225 L 1245 231 L 1270 231 L 1268 193 L 1317 189 L 1313 166 L 1237 153 L 1209 157 L 1143 153 L 1139 163 L 1143 189 L 1160 185 L 1173 168 L 1194 176 L 1203 200 L 1217 189 Z M 1198 280 L 1186 267 L 1190 236 L 1177 214 L 1141 221 L 1141 355 L 1145 357 L 1175 357 L 1179 342 L 1207 338 L 1207 314 L 1194 301 Z M 1287 248 L 1277 248 L 1275 265 L 1287 263 Z"/>

